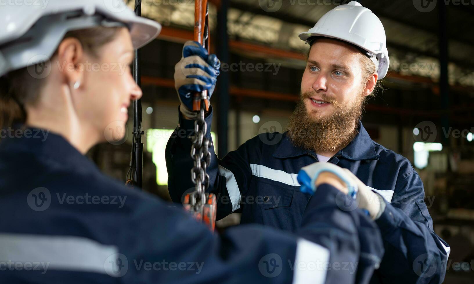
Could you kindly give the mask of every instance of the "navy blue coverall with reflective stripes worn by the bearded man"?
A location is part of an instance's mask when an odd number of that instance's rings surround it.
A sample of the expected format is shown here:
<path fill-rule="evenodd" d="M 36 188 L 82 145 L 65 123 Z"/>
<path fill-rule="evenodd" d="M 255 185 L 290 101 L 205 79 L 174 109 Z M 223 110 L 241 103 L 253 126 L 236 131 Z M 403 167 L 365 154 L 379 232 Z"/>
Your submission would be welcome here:
<path fill-rule="evenodd" d="M 182 134 L 190 133 L 194 122 L 178 113 L 179 125 L 166 148 L 168 187 L 175 202 L 192 186 L 182 172 L 193 165 L 191 142 Z M 206 117 L 208 137 L 211 121 L 212 110 Z M 218 196 L 218 219 L 241 212 L 243 224 L 298 230 L 310 195 L 300 192 L 296 177 L 302 167 L 318 161 L 314 151 L 293 146 L 286 133 L 263 133 L 222 160 L 212 154 L 208 173 L 210 192 Z M 374 142 L 359 122 L 356 137 L 328 162 L 349 169 L 386 201 L 376 220 L 385 255 L 371 283 L 441 283 L 450 248 L 433 231 L 423 184 L 410 161 Z"/>

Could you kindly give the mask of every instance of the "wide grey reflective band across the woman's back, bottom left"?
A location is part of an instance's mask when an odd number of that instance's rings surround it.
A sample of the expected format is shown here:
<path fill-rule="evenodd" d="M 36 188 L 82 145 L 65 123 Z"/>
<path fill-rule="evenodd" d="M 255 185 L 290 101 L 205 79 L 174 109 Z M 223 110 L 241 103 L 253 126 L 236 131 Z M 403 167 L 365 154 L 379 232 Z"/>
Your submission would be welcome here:
<path fill-rule="evenodd" d="M 45 270 L 113 275 L 105 261 L 117 253 L 116 246 L 76 236 L 0 234 L 0 262 L 41 263 Z"/>

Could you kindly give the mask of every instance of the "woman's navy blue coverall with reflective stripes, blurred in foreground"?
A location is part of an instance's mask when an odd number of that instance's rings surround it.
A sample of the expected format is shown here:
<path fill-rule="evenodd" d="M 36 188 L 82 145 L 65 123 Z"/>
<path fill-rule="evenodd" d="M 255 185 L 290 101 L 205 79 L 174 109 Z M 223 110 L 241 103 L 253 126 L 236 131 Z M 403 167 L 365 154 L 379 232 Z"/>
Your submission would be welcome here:
<path fill-rule="evenodd" d="M 219 236 L 103 175 L 60 135 L 14 136 L 0 142 L 0 283 L 367 283 L 383 257 L 374 222 L 329 185 L 295 234 Z"/>

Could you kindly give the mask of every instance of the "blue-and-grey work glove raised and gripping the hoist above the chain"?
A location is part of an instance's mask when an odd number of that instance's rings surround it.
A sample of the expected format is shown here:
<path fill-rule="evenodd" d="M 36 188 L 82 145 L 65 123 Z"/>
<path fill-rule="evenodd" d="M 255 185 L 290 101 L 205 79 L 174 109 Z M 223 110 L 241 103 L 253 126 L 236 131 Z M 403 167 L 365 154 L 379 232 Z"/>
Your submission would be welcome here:
<path fill-rule="evenodd" d="M 180 110 L 188 118 L 195 119 L 192 111 L 192 94 L 208 90 L 211 97 L 219 76 L 220 61 L 215 54 L 208 55 L 201 44 L 187 41 L 182 49 L 182 58 L 174 66 L 174 88 L 181 101 Z"/>

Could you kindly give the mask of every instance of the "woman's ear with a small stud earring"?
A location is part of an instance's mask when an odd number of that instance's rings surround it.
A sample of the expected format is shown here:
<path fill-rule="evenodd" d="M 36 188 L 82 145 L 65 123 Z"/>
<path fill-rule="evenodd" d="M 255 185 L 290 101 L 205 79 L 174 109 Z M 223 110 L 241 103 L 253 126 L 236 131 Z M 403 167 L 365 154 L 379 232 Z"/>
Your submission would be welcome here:
<path fill-rule="evenodd" d="M 79 40 L 73 37 L 64 39 L 58 47 L 59 72 L 64 76 L 65 82 L 71 86 L 76 82 L 82 82 L 82 66 L 84 60 L 84 49 Z"/>

